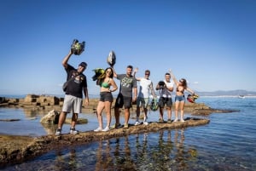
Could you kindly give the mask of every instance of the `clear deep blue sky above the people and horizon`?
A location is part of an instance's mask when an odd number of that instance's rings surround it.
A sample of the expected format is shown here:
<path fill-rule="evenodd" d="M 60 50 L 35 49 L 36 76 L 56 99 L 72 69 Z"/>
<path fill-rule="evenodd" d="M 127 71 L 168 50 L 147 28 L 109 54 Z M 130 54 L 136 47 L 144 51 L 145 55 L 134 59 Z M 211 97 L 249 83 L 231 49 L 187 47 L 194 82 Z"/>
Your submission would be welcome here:
<path fill-rule="evenodd" d="M 85 51 L 68 61 L 88 64 L 91 77 L 107 68 L 150 70 L 154 85 L 170 69 L 198 92 L 256 91 L 254 0 L 9 0 L 0 1 L 0 94 L 63 94 L 61 61 L 73 39 Z M 119 80 L 115 80 L 119 85 Z"/>

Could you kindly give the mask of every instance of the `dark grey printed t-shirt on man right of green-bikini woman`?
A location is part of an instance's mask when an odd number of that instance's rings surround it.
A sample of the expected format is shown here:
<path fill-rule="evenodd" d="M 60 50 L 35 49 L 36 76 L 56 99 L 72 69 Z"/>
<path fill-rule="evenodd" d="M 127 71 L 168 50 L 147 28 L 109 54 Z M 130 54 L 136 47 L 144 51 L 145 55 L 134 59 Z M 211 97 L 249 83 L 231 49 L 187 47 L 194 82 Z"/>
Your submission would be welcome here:
<path fill-rule="evenodd" d="M 120 80 L 120 94 L 125 97 L 132 97 L 132 88 L 137 88 L 135 77 L 127 77 L 126 74 L 118 74 L 117 79 Z"/>

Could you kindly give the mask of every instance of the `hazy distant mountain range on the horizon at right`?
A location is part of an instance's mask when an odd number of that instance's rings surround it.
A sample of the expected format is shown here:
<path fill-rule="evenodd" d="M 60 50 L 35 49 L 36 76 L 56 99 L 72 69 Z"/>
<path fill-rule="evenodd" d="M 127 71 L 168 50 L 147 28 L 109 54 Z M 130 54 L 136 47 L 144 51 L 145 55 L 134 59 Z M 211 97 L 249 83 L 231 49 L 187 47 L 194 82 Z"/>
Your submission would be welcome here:
<path fill-rule="evenodd" d="M 201 96 L 256 96 L 256 92 L 253 91 L 247 91 L 243 89 L 236 89 L 236 90 L 230 90 L 230 91 L 212 91 L 212 92 L 198 92 Z"/>

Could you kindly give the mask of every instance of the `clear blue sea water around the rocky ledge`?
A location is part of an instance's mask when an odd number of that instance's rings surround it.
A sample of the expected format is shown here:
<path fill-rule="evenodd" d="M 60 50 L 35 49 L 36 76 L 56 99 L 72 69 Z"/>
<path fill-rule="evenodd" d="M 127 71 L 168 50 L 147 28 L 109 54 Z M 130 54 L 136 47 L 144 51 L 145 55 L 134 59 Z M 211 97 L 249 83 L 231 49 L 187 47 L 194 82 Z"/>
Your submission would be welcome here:
<path fill-rule="evenodd" d="M 256 170 L 256 98 L 200 98 L 198 102 L 239 111 L 213 113 L 207 117 L 211 122 L 203 126 L 67 146 L 3 170 Z M 7 108 L 0 110 L 0 117 L 3 111 L 10 112 Z M 20 109 L 11 112 L 20 116 L 20 122 L 34 122 L 27 127 L 36 127 L 37 131 L 24 130 L 26 134 L 46 134 L 38 124 L 40 115 L 30 120 L 22 117 Z M 90 117 L 88 125 L 79 126 L 82 131 L 96 128 L 96 116 L 81 117 Z M 157 118 L 158 113 L 149 114 L 149 121 Z M 130 123 L 133 122 L 131 119 Z M 68 127 L 65 126 L 67 131 Z M 3 122 L 0 133 L 3 133 Z M 19 134 L 22 133 L 20 130 Z"/>

